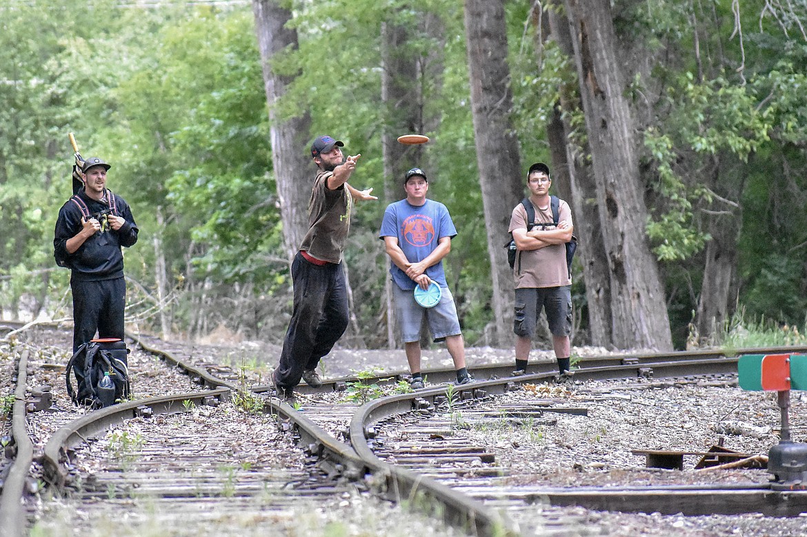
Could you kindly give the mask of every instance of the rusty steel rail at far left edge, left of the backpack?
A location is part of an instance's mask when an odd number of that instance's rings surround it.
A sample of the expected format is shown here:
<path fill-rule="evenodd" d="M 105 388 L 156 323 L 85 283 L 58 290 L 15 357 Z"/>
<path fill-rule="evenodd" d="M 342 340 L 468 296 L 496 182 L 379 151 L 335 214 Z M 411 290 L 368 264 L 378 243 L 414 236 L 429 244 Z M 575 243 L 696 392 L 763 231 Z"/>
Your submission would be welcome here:
<path fill-rule="evenodd" d="M 25 535 L 25 510 L 23 492 L 31 472 L 34 444 L 28 436 L 25 423 L 25 391 L 27 384 L 28 351 L 23 351 L 17 365 L 17 386 L 11 414 L 11 436 L 14 439 L 15 458 L 2 484 L 0 496 L 0 528 L 2 535 Z"/>

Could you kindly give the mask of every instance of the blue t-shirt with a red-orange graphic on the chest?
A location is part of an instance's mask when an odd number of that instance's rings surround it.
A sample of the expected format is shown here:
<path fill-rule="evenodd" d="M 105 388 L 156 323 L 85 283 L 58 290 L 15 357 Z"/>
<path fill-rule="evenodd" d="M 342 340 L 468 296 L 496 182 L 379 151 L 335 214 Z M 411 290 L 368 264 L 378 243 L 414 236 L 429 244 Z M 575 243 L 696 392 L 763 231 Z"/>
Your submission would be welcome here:
<path fill-rule="evenodd" d="M 427 199 L 422 206 L 410 205 L 406 199 L 391 203 L 384 211 L 381 232 L 378 238 L 397 237 L 398 246 L 410 263 L 417 263 L 429 256 L 437 248 L 443 237 L 454 237 L 457 230 L 451 221 L 449 210 L 441 202 Z M 415 281 L 390 261 L 392 281 L 404 291 L 415 289 Z M 443 262 L 426 269 L 426 276 L 437 285 L 448 287 L 443 271 Z"/>

